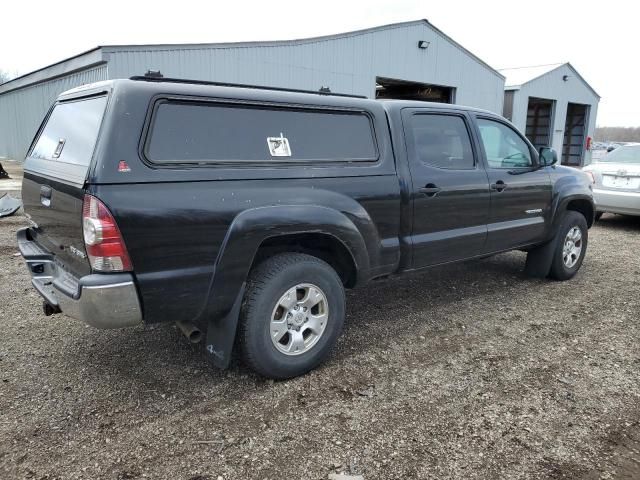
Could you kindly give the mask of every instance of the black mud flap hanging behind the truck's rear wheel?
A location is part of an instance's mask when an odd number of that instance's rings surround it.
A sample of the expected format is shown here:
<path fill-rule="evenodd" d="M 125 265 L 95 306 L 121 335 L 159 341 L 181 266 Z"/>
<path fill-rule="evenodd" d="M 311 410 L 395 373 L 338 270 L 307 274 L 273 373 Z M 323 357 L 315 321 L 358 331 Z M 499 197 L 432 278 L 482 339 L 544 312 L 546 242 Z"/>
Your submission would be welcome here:
<path fill-rule="evenodd" d="M 223 318 L 209 320 L 207 325 L 207 360 L 218 368 L 227 368 L 231 363 L 231 351 L 236 338 L 245 287 L 246 283 L 243 283 L 229 313 Z"/>

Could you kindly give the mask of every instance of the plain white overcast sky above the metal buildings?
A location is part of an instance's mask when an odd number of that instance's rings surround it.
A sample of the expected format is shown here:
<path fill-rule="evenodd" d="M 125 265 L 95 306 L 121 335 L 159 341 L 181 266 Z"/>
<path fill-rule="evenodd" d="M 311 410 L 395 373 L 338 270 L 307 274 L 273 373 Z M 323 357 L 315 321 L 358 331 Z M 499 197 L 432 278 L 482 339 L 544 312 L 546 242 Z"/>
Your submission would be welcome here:
<path fill-rule="evenodd" d="M 426 18 L 494 68 L 570 61 L 600 94 L 598 125 L 640 125 L 633 0 L 6 1 L 0 69 L 98 45 L 287 40 Z"/>

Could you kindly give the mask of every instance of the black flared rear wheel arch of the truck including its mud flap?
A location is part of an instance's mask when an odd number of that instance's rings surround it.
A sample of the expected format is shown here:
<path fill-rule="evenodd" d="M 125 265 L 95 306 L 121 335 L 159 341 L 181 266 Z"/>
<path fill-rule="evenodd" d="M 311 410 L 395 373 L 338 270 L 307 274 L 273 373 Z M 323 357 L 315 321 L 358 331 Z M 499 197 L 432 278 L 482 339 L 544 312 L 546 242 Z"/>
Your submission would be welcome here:
<path fill-rule="evenodd" d="M 222 243 L 207 303 L 198 319 L 208 324 L 206 351 L 214 365 L 225 368 L 231 359 L 251 268 L 270 253 L 285 251 L 315 253 L 336 269 L 345 286 L 366 281 L 370 271 L 363 235 L 343 212 L 307 205 L 258 207 L 241 212 Z"/>

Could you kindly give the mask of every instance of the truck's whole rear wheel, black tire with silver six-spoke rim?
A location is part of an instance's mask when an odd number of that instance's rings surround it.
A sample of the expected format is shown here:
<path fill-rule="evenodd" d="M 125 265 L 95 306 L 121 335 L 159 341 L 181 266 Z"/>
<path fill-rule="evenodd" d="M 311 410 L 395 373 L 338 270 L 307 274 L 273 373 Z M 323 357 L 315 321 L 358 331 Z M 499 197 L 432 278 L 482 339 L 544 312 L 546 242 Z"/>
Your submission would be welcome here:
<path fill-rule="evenodd" d="M 266 377 L 302 375 L 327 357 L 344 316 L 344 288 L 331 266 L 301 253 L 275 255 L 247 284 L 238 330 L 242 358 Z"/>

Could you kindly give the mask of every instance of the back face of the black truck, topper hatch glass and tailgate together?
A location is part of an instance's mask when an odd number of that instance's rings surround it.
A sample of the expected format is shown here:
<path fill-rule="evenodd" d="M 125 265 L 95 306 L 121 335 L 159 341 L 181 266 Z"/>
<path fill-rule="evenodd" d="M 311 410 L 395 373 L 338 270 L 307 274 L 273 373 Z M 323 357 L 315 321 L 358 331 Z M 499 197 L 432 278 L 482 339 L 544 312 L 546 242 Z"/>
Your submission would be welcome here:
<path fill-rule="evenodd" d="M 31 236 L 77 276 L 90 273 L 82 234 L 85 181 L 107 96 L 58 102 L 24 166 L 22 200 Z"/>

